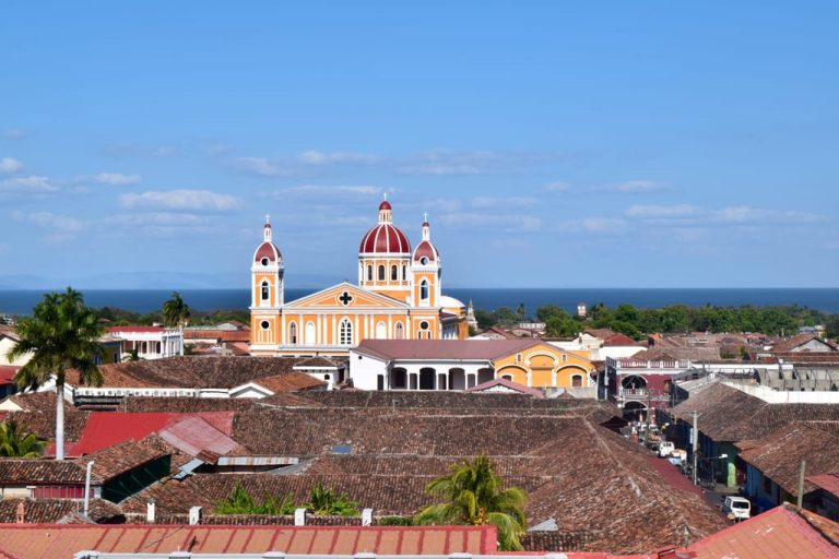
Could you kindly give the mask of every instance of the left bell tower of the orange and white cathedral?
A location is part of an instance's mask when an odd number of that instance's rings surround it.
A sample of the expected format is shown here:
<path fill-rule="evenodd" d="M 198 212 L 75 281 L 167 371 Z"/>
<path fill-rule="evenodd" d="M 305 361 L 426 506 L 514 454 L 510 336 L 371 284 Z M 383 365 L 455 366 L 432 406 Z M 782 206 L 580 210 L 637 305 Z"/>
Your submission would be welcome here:
<path fill-rule="evenodd" d="M 271 236 L 271 222 L 265 216 L 262 243 L 253 252 L 250 266 L 250 343 L 253 346 L 279 344 L 282 332 L 283 255 Z"/>

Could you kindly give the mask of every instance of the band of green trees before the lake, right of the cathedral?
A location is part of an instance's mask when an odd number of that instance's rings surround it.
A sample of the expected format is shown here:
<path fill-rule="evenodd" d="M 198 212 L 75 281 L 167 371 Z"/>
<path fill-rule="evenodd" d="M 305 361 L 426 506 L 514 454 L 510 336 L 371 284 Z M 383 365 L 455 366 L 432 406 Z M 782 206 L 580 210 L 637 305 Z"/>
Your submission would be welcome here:
<path fill-rule="evenodd" d="M 529 316 L 524 306 L 516 310 L 501 307 L 494 311 L 475 310 L 478 328 L 511 328 L 525 321 Z M 801 326 L 822 324 L 828 337 L 839 337 L 839 314 L 827 313 L 797 305 L 773 307 L 721 307 L 705 305 L 667 305 L 660 309 L 643 309 L 629 304 L 610 308 L 599 302 L 591 307 L 586 318 L 571 316 L 556 305 L 539 307 L 535 318 L 545 323 L 551 337 L 574 337 L 583 330 L 607 328 L 635 340 L 653 333 L 674 332 L 755 332 L 771 336 L 790 336 Z"/>

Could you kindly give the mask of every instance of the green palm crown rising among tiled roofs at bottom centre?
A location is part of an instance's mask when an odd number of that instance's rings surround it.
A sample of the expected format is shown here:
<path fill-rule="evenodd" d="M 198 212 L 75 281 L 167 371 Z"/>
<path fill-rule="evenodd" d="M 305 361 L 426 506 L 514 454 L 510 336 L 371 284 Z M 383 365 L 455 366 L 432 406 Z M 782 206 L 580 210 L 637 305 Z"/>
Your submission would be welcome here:
<path fill-rule="evenodd" d="M 528 493 L 518 487 L 503 489 L 494 464 L 484 455 L 452 464 L 449 469 L 449 475 L 438 477 L 425 488 L 446 502 L 420 511 L 416 524 L 494 524 L 501 550 L 522 549 L 519 536 L 527 530 L 528 521 L 521 508 Z"/>

